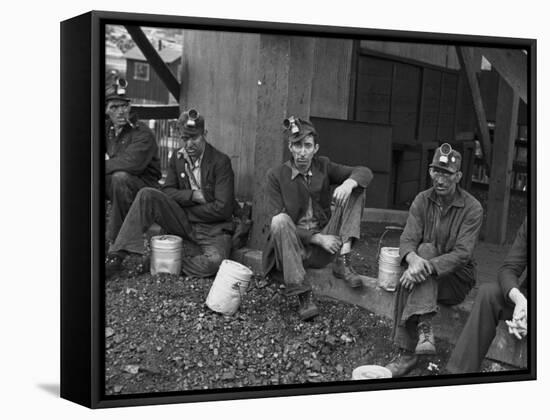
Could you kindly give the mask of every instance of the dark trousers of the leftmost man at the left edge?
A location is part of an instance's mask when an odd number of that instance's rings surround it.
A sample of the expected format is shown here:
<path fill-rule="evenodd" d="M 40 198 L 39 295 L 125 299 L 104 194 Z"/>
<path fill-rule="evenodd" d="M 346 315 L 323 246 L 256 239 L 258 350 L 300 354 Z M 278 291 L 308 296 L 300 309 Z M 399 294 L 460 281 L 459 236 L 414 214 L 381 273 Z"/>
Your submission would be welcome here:
<path fill-rule="evenodd" d="M 155 184 L 156 182 L 147 183 L 140 177 L 123 171 L 117 171 L 105 177 L 105 194 L 111 202 L 106 231 L 106 239 L 109 242 L 113 242 L 117 237 L 138 191 L 144 187 L 153 187 Z"/>

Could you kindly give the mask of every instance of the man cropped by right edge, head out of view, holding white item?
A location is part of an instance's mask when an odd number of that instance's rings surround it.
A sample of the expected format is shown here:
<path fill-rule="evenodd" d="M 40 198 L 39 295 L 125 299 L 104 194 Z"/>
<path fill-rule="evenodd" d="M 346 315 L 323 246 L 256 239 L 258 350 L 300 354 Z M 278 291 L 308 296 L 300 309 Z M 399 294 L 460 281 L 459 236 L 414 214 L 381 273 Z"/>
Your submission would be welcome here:
<path fill-rule="evenodd" d="M 519 228 L 496 282 L 480 286 L 472 312 L 447 364 L 449 373 L 479 372 L 499 320 L 518 340 L 527 335 L 527 299 L 519 279 L 527 268 L 527 220 Z M 527 278 L 527 277 L 526 277 Z"/>

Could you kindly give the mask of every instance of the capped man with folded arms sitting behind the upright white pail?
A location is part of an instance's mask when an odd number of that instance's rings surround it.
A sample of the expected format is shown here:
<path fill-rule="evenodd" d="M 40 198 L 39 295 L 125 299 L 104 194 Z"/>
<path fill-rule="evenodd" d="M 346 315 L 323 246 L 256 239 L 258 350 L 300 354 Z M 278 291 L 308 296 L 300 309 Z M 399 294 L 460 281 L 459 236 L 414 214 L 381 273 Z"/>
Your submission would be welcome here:
<path fill-rule="evenodd" d="M 122 270 L 128 254 L 143 255 L 144 233 L 156 223 L 184 242 L 182 271 L 211 277 L 231 252 L 234 175 L 227 155 L 206 141 L 204 118 L 196 110 L 177 121 L 182 147 L 170 158 L 162 190 L 139 191 L 109 250 L 107 277 Z M 147 270 L 147 260 L 143 260 Z"/>

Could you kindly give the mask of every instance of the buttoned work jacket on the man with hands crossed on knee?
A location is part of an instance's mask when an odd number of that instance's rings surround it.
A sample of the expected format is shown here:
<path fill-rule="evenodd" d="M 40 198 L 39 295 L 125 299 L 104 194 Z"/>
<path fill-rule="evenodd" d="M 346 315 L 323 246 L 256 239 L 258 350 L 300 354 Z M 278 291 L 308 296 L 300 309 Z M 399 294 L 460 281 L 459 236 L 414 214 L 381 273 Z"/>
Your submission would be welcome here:
<path fill-rule="evenodd" d="M 482 221 L 481 204 L 459 186 L 446 210 L 437 202 L 434 188 L 422 191 L 409 209 L 407 224 L 401 234 L 401 260 L 409 252 L 416 252 L 421 243 L 432 243 L 439 255 L 430 259 L 430 263 L 438 275 L 473 265 L 473 252 Z"/>

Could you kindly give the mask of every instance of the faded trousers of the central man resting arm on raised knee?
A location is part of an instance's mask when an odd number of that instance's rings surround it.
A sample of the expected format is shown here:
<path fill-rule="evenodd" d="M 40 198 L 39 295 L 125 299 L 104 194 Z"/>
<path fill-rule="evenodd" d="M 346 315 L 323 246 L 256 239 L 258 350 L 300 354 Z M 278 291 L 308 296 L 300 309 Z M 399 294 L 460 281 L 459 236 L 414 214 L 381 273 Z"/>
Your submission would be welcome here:
<path fill-rule="evenodd" d="M 358 239 L 364 207 L 364 189 L 355 188 L 346 204 L 334 210 L 320 233 L 339 236 L 342 243 Z M 275 268 L 283 272 L 288 296 L 311 290 L 306 268 L 325 267 L 337 255 L 317 245 L 303 244 L 296 233 L 296 225 L 286 213 L 279 213 L 271 219 L 270 240 L 274 248 Z"/>

